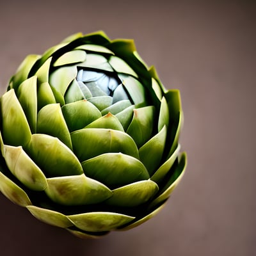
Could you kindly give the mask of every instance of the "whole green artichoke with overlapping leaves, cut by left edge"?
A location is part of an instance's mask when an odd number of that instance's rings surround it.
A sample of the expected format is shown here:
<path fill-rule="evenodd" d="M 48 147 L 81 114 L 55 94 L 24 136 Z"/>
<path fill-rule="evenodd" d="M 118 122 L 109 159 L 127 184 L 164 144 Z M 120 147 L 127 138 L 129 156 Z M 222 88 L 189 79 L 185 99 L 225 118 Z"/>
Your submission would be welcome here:
<path fill-rule="evenodd" d="M 102 31 L 27 56 L 0 113 L 0 191 L 78 237 L 152 218 L 186 167 L 179 90 Z"/>

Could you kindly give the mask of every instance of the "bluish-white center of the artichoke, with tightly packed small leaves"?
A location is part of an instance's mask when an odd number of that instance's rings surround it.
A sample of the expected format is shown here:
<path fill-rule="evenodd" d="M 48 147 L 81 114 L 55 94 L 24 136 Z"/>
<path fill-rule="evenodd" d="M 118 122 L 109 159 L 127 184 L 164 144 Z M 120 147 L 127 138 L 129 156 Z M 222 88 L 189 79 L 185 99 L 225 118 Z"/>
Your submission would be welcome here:
<path fill-rule="evenodd" d="M 81 68 L 77 72 L 76 79 L 83 92 L 84 99 L 87 98 L 86 95 L 90 92 L 92 97 L 112 97 L 113 104 L 120 100 L 130 100 L 131 104 L 133 104 L 129 93 L 123 86 L 122 80 L 115 73 Z"/>

